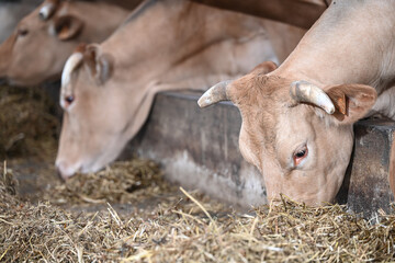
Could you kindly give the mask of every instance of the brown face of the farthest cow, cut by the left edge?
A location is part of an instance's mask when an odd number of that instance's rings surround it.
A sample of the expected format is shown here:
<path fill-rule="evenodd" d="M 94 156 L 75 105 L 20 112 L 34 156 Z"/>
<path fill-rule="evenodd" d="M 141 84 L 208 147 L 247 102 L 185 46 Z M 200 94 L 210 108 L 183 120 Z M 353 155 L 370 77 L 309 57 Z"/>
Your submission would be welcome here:
<path fill-rule="evenodd" d="M 18 24 L 0 46 L 0 78 L 15 85 L 35 85 L 58 77 L 83 27 L 81 20 L 67 12 L 69 4 L 44 1 Z"/>

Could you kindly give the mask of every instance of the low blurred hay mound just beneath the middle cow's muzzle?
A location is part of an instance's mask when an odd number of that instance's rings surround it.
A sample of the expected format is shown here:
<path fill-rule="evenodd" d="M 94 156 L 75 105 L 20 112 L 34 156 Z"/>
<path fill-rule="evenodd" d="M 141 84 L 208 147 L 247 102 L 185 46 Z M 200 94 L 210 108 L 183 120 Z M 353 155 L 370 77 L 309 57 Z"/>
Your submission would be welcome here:
<path fill-rule="evenodd" d="M 56 205 L 106 202 L 131 204 L 147 198 L 147 195 L 155 196 L 171 191 L 161 175 L 155 162 L 135 158 L 115 162 L 111 168 L 97 173 L 77 174 L 44 193 L 44 198 Z"/>

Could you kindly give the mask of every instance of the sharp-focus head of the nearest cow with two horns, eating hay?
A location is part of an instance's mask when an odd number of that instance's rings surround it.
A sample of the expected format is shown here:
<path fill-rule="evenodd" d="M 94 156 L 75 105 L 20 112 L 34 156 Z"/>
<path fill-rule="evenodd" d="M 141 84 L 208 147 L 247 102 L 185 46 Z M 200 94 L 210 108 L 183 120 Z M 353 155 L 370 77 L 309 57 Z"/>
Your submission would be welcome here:
<path fill-rule="evenodd" d="M 262 173 L 268 199 L 285 194 L 309 205 L 332 202 L 348 167 L 352 124 L 373 106 L 376 92 L 362 84 L 317 87 L 278 76 L 272 62 L 222 82 L 200 106 L 230 100 L 240 111 L 239 148 Z"/>

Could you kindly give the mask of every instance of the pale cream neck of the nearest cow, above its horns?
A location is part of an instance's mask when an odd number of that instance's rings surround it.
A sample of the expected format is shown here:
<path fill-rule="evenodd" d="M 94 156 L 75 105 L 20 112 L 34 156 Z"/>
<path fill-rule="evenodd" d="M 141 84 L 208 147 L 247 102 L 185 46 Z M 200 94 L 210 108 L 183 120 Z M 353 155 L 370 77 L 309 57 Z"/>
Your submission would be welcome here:
<path fill-rule="evenodd" d="M 385 2 L 334 1 L 274 73 L 321 87 L 362 83 L 383 89 L 380 79 L 392 78 L 383 61 L 395 59 L 395 8 Z"/>

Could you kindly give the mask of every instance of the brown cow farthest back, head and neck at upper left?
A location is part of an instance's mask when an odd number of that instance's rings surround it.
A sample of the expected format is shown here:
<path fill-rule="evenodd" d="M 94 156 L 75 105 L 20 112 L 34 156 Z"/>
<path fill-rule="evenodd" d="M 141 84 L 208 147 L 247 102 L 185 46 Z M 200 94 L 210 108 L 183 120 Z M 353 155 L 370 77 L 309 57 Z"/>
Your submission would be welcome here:
<path fill-rule="evenodd" d="M 0 78 L 32 87 L 60 78 L 81 42 L 102 42 L 129 13 L 104 2 L 46 0 L 0 46 Z"/>

